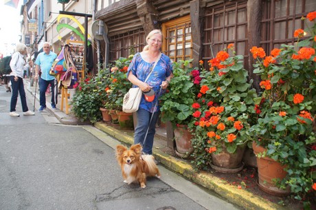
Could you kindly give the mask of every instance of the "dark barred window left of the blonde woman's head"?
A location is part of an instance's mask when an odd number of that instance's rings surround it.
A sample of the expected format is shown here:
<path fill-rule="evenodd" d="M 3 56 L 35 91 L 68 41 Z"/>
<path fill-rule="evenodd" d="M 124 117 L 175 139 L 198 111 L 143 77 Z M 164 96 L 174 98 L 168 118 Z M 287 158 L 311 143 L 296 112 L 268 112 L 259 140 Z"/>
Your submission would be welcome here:
<path fill-rule="evenodd" d="M 134 30 L 111 36 L 110 38 L 110 61 L 115 61 L 120 57 L 127 58 L 130 54 L 142 52 L 145 46 L 145 32 L 142 29 Z"/>

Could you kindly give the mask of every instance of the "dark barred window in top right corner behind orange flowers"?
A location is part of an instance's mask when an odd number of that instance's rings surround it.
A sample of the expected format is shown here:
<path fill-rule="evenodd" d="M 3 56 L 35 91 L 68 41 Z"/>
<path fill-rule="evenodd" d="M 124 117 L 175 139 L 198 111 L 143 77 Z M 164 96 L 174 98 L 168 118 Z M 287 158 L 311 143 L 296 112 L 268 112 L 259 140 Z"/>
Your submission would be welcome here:
<path fill-rule="evenodd" d="M 260 44 L 266 52 L 280 48 L 282 43 L 295 45 L 297 39 L 293 34 L 297 29 L 301 28 L 307 32 L 307 36 L 310 35 L 307 28 L 311 28 L 313 23 L 301 18 L 315 10 L 315 0 L 271 0 L 262 3 Z"/>

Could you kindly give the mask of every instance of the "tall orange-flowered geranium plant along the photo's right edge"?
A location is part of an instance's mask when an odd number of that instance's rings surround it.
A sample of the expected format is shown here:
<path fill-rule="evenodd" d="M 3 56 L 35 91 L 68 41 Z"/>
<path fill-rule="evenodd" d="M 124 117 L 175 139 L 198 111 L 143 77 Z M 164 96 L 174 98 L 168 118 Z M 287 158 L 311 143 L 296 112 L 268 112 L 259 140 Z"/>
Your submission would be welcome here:
<path fill-rule="evenodd" d="M 268 192 L 289 186 L 296 199 L 304 200 L 306 208 L 316 197 L 315 18 L 316 12 L 307 15 L 310 31 L 295 30 L 295 46 L 281 45 L 269 56 L 262 48 L 251 49 L 257 59 L 253 72 L 261 76 L 263 89 L 255 100 L 258 123 L 250 129 L 256 136 L 253 147 L 264 149 L 258 158 L 271 158 L 286 171 L 282 178 L 259 178 L 259 185 Z M 258 165 L 259 176 L 260 172 Z"/>

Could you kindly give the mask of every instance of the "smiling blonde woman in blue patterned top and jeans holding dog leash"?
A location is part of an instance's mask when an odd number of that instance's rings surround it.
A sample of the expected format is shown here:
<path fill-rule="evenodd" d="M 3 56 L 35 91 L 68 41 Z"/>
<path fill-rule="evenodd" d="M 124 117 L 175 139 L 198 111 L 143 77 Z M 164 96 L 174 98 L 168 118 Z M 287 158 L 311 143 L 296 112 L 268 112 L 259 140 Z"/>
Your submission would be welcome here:
<path fill-rule="evenodd" d="M 173 76 L 170 58 L 160 52 L 162 41 L 161 30 L 149 32 L 146 37 L 147 45 L 142 52 L 135 54 L 127 72 L 128 80 L 145 93 L 137 110 L 134 137 L 134 144 L 142 145 L 144 154 L 153 154 L 155 125 L 159 117 L 158 99 L 166 92 Z M 150 76 L 145 83 L 148 75 Z"/>

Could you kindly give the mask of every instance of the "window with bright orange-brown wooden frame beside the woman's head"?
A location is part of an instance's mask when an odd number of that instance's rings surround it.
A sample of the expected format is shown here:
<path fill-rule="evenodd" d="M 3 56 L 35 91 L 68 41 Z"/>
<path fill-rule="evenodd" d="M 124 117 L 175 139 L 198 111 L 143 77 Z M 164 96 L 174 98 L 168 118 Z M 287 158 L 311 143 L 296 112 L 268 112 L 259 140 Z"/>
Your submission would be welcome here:
<path fill-rule="evenodd" d="M 181 17 L 162 24 L 164 54 L 171 61 L 192 59 L 192 37 L 190 16 Z"/>

